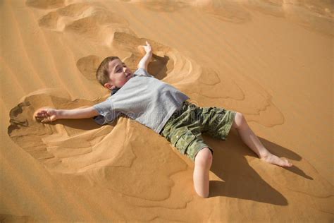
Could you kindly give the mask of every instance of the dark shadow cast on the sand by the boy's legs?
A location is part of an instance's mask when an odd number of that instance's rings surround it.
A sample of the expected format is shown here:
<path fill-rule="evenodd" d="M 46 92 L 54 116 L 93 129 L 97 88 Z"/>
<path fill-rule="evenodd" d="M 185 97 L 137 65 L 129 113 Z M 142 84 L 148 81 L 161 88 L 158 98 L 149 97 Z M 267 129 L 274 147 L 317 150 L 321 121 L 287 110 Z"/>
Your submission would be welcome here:
<path fill-rule="evenodd" d="M 245 143 L 242 143 L 235 129 L 231 129 L 228 139 L 223 142 L 206 134 L 203 134 L 203 138 L 214 149 L 214 160 L 210 170 L 225 181 L 210 181 L 210 197 L 227 196 L 261 203 L 271 203 L 273 205 L 288 204 L 287 199 L 279 191 L 266 183 L 249 166 L 245 156 L 257 156 Z M 271 143 L 263 138 L 260 138 L 260 140 L 268 150 L 278 157 L 286 157 L 290 160 L 302 159 L 297 153 L 285 147 Z M 287 169 L 287 171 L 292 171 L 299 176 L 313 180 L 311 176 L 308 176 L 296 166 L 278 168 Z"/>

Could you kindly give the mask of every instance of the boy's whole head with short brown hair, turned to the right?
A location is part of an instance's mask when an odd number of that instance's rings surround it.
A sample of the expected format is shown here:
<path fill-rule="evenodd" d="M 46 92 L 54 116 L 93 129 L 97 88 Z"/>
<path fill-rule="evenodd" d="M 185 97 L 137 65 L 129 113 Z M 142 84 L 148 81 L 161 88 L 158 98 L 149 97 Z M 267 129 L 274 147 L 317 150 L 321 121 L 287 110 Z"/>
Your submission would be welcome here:
<path fill-rule="evenodd" d="M 97 68 L 97 80 L 109 90 L 121 88 L 132 77 L 132 71 L 118 56 L 106 57 Z"/>

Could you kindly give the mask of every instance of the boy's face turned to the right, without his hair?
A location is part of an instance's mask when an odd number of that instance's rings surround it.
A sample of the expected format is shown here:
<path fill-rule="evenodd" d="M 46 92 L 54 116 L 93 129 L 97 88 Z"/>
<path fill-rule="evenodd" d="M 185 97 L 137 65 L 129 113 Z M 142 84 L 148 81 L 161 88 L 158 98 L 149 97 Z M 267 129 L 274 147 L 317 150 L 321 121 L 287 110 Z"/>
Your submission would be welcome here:
<path fill-rule="evenodd" d="M 133 77 L 133 73 L 120 59 L 114 59 L 109 62 L 109 83 L 105 83 L 104 87 L 121 88 L 125 83 Z"/>

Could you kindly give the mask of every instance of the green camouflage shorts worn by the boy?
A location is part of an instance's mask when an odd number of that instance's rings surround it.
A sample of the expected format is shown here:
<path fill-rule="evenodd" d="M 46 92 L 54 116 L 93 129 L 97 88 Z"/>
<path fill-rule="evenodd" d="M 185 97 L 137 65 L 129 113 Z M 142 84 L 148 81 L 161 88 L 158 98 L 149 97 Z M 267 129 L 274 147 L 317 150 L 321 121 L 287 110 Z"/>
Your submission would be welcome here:
<path fill-rule="evenodd" d="M 220 107 L 197 107 L 185 101 L 168 119 L 160 134 L 194 161 L 199 150 L 209 147 L 204 143 L 202 133 L 226 140 L 236 112 Z M 211 147 L 209 150 L 214 154 Z"/>

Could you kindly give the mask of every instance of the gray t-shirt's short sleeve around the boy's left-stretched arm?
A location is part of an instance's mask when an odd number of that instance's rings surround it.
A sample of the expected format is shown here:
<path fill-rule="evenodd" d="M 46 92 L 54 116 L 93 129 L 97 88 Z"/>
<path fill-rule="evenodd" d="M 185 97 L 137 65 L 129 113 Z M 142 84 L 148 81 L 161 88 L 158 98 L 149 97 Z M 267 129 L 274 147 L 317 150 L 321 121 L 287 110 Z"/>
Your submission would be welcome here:
<path fill-rule="evenodd" d="M 95 104 L 93 107 L 99 112 L 99 116 L 94 117 L 94 121 L 99 125 L 110 123 L 120 115 L 120 112 L 113 109 L 113 103 L 110 99 Z"/>

